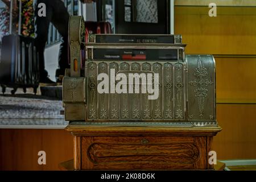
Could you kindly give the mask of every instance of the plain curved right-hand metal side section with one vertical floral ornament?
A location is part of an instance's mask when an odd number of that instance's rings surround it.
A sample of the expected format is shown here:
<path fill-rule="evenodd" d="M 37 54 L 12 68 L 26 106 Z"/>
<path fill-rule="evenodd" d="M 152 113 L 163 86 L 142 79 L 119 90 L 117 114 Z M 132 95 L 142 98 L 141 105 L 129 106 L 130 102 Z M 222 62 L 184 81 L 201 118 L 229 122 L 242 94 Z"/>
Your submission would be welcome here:
<path fill-rule="evenodd" d="M 187 55 L 189 121 L 216 121 L 215 61 L 212 55 Z"/>

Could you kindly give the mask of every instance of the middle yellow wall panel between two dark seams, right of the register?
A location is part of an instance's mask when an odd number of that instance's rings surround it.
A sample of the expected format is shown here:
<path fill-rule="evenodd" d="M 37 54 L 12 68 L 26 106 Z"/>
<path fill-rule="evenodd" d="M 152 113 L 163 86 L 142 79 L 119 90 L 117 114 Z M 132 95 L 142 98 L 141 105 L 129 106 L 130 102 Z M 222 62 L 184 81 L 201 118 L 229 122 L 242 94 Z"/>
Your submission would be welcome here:
<path fill-rule="evenodd" d="M 218 102 L 256 102 L 256 57 L 215 57 Z"/>

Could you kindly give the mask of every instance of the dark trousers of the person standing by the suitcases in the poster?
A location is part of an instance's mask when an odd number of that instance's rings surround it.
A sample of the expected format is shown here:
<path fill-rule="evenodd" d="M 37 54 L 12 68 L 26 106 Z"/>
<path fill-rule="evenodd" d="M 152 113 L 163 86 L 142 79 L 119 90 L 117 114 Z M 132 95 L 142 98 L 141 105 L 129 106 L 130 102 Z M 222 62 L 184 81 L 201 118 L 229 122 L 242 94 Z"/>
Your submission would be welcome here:
<path fill-rule="evenodd" d="M 46 17 L 38 16 L 39 3 L 45 3 L 46 5 Z M 48 76 L 48 73 L 44 67 L 44 49 L 46 48 L 46 42 L 48 38 L 48 28 L 51 22 L 59 31 L 62 42 L 59 51 L 59 68 L 60 72 L 64 74 L 65 68 L 69 67 L 68 64 L 68 21 L 69 14 L 61 0 L 37 0 L 35 2 L 35 42 L 39 51 L 39 68 L 40 77 L 44 78 Z M 61 74 L 61 75 L 62 75 Z"/>

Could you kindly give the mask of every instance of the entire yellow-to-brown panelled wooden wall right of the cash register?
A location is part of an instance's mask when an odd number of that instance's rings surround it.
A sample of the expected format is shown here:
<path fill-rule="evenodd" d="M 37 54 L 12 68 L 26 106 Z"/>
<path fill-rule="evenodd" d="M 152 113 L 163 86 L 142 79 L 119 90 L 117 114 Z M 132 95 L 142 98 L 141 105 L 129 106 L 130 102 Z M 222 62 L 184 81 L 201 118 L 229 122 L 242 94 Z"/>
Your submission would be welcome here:
<path fill-rule="evenodd" d="M 217 17 L 208 11 L 176 6 L 175 34 L 188 44 L 187 54 L 215 56 L 217 102 L 233 103 L 217 104 L 223 128 L 213 140 L 218 159 L 255 159 L 256 7 L 217 7 Z"/>

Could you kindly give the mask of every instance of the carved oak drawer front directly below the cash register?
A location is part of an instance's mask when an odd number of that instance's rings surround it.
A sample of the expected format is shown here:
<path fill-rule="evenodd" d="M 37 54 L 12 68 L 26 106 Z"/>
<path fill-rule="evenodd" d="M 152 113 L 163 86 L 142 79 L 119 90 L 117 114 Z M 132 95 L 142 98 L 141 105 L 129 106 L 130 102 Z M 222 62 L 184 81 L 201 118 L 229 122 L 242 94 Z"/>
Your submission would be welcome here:
<path fill-rule="evenodd" d="M 82 169 L 206 169 L 205 137 L 82 137 Z"/>

